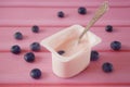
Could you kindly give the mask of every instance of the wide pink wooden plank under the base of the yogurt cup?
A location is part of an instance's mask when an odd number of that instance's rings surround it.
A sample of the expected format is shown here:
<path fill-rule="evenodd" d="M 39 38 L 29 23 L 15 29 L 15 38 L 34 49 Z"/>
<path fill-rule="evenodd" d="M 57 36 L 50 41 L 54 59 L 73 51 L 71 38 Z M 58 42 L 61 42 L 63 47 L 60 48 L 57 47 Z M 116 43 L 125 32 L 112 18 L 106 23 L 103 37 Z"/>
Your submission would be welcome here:
<path fill-rule="evenodd" d="M 51 53 L 35 52 L 34 63 L 23 59 L 25 52 L 15 55 L 10 52 L 0 53 L 0 84 L 42 84 L 42 85 L 90 85 L 90 86 L 130 86 L 130 53 L 129 52 L 100 52 L 100 59 L 91 62 L 89 67 L 75 77 L 64 79 L 52 73 Z M 112 73 L 104 73 L 102 64 L 110 62 L 114 65 Z M 29 76 L 30 70 L 38 67 L 42 77 L 38 80 Z"/>

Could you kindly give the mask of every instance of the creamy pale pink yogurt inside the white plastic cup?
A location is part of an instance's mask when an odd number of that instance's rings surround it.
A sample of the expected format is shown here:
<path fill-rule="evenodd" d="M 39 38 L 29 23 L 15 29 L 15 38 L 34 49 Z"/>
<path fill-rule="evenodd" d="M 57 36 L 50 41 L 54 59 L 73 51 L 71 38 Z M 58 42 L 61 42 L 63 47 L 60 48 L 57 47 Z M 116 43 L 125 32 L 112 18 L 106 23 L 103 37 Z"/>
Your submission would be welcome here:
<path fill-rule="evenodd" d="M 64 57 L 70 57 L 73 54 L 76 54 L 79 51 L 87 50 L 88 48 L 88 39 L 82 39 L 80 42 L 78 42 L 77 37 L 72 37 L 66 39 L 62 45 L 60 45 L 57 48 L 55 48 L 56 51 L 63 50 L 65 53 L 62 55 Z"/>

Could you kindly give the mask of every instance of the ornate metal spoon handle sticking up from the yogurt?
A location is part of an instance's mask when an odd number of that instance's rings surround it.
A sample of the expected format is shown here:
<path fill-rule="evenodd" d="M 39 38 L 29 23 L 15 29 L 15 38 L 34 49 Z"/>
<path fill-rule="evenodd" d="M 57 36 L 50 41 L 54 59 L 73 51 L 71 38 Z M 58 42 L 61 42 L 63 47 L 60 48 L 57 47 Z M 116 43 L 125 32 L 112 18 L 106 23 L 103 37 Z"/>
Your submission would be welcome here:
<path fill-rule="evenodd" d="M 81 35 L 79 36 L 78 42 L 80 42 L 80 39 L 82 38 L 82 36 L 90 29 L 90 27 L 92 25 L 94 25 L 94 23 L 108 10 L 108 2 L 105 1 L 95 12 L 94 16 L 92 17 L 92 20 L 89 22 L 89 24 L 87 25 L 87 27 L 84 28 L 84 30 L 81 33 Z"/>

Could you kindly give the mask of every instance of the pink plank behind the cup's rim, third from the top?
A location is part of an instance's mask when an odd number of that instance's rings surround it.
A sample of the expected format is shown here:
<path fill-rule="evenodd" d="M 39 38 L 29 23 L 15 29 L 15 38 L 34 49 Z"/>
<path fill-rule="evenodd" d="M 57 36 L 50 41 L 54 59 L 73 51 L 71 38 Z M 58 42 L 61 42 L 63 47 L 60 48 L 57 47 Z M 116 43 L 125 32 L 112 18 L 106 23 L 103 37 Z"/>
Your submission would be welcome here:
<path fill-rule="evenodd" d="M 66 26 L 65 26 L 66 27 Z M 20 45 L 23 51 L 29 51 L 29 45 L 34 41 L 40 42 L 42 39 L 62 30 L 65 27 L 42 27 L 40 26 L 40 33 L 34 34 L 31 27 L 0 27 L 0 51 L 10 51 L 11 46 Z M 110 42 L 118 40 L 122 44 L 121 51 L 130 51 L 129 37 L 130 37 L 130 27 L 116 27 L 114 26 L 113 33 L 106 33 L 104 27 L 92 27 L 91 32 L 102 38 L 102 42 L 95 46 L 94 50 L 100 51 L 112 51 Z M 23 40 L 14 39 L 13 35 L 16 32 L 21 32 L 24 36 Z M 46 48 L 42 48 L 41 51 L 47 51 Z"/>

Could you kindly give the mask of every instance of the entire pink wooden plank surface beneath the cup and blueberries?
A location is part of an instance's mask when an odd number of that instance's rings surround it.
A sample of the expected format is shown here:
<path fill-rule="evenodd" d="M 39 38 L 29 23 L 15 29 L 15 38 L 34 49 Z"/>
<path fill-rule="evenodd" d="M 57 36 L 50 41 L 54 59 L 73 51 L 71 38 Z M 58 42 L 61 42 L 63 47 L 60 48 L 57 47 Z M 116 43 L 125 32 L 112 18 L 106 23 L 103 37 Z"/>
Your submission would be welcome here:
<path fill-rule="evenodd" d="M 0 87 L 129 87 L 130 86 L 130 0 L 108 0 L 109 11 L 91 28 L 102 38 L 102 42 L 92 48 L 100 52 L 100 60 L 91 62 L 81 74 L 64 79 L 52 73 L 51 53 L 42 48 L 35 52 L 36 61 L 27 63 L 23 59 L 29 45 L 74 24 L 86 26 L 96 8 L 105 0 L 0 0 Z M 87 15 L 77 13 L 79 7 L 86 7 Z M 64 18 L 56 13 L 65 12 Z M 113 25 L 114 32 L 106 33 L 104 27 Z M 32 25 L 40 27 L 39 34 L 31 33 Z M 23 40 L 15 40 L 13 34 L 21 32 Z M 122 44 L 120 51 L 109 48 L 113 40 Z M 20 45 L 23 52 L 12 54 L 10 48 Z M 106 74 L 101 66 L 112 62 L 114 72 Z M 29 71 L 38 67 L 41 79 L 32 79 Z"/>

